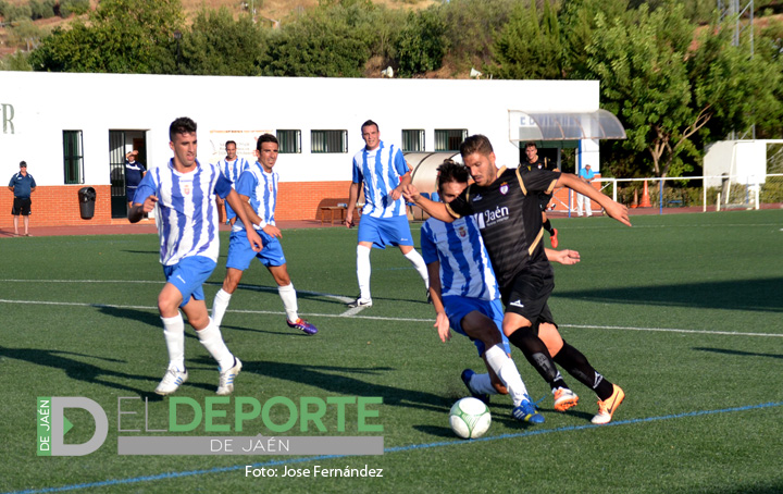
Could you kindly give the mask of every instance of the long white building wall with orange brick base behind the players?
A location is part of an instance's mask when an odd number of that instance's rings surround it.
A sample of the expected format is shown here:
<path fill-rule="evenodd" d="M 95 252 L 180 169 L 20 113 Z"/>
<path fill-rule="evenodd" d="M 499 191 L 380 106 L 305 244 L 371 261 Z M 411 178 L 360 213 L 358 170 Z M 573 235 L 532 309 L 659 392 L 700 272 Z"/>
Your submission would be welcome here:
<path fill-rule="evenodd" d="M 301 153 L 281 155 L 277 218 L 314 220 L 319 205 L 347 200 L 351 158 L 361 124 L 372 119 L 381 138 L 399 144 L 402 129 L 423 129 L 434 151 L 435 129 L 485 134 L 499 164 L 519 162 L 509 140 L 509 110 L 595 111 L 596 81 L 427 81 L 309 77 L 214 77 L 136 74 L 0 72 L 0 170 L 9 180 L 25 160 L 38 183 L 36 224 L 83 224 L 75 192 L 98 190 L 91 223 L 111 223 L 110 131 L 146 137 L 148 168 L 172 156 L 169 125 L 177 116 L 199 125 L 199 160 L 222 157 L 221 135 L 299 129 Z M 314 129 L 347 131 L 347 151 L 311 153 Z M 82 131 L 84 183 L 63 185 L 63 131 Z M 126 144 L 127 146 L 127 144 Z M 588 145 L 589 146 L 589 145 Z M 252 157 L 246 156 L 252 162 Z M 597 169 L 597 166 L 594 166 Z M 3 177 L 0 174 L 0 178 Z M 10 205 L 0 193 L 0 208 Z M 10 206 L 8 206 L 10 213 Z M 10 214 L 0 224 L 10 224 Z M 62 223 L 67 222 L 67 223 Z"/>

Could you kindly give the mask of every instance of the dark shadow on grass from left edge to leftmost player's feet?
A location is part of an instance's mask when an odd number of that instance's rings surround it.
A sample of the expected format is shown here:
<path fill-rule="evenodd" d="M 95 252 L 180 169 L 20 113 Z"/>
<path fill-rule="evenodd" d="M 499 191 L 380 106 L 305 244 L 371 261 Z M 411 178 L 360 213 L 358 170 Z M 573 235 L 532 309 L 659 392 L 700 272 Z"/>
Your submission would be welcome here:
<path fill-rule="evenodd" d="M 158 382 L 158 379 L 156 378 L 116 372 L 74 358 L 82 357 L 85 359 L 98 359 L 110 363 L 126 363 L 125 360 L 97 357 L 87 354 L 76 354 L 73 351 L 60 350 L 45 350 L 40 348 L 8 348 L 4 346 L 0 346 L 0 357 L 22 360 L 25 362 L 34 363 L 36 366 L 46 366 L 51 367 L 52 369 L 60 369 L 64 371 L 65 374 L 71 379 L 84 381 L 90 384 L 100 384 L 107 387 L 130 391 L 138 395 L 148 394 L 149 391 L 152 390 L 152 387 L 146 386 L 145 390 L 139 390 L 125 384 L 108 381 L 105 378 L 117 378 L 129 381 L 144 381 L 145 384 L 149 382 Z"/>

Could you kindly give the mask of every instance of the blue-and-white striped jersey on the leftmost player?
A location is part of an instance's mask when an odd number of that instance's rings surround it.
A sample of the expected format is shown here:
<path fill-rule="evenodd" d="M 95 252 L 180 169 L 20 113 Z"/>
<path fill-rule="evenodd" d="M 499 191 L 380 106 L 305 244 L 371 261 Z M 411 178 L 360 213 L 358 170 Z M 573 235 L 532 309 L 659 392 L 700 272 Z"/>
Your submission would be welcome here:
<path fill-rule="evenodd" d="M 195 171 L 179 173 L 173 159 L 165 166 L 149 171 L 136 189 L 134 202 L 150 195 L 158 197 L 156 223 L 160 236 L 160 257 L 173 265 L 191 256 L 203 256 L 217 262 L 217 208 L 215 195 L 225 198 L 231 182 L 214 164 L 196 161 Z"/>

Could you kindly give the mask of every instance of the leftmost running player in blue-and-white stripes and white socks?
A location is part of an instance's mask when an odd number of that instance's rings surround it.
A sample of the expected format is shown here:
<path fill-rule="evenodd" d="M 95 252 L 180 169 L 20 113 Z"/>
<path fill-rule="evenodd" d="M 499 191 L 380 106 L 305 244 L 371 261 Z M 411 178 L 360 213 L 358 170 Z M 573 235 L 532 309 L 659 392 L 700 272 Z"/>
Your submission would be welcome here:
<path fill-rule="evenodd" d="M 196 122 L 186 116 L 175 120 L 169 136 L 174 157 L 167 165 L 144 176 L 128 210 L 130 223 L 156 210 L 160 260 L 166 277 L 158 296 L 158 310 L 163 321 L 169 368 L 156 393 L 172 394 L 188 379 L 182 308 L 199 341 L 220 366 L 217 394 L 228 395 L 234 391 L 241 361 L 228 350 L 220 328 L 210 319 L 202 285 L 212 274 L 220 250 L 215 196 L 237 210 L 241 202 L 217 166 L 201 164 L 196 159 Z M 245 211 L 237 214 L 247 221 Z M 246 242 L 250 249 L 261 250 L 261 238 L 254 231 L 247 232 Z"/>

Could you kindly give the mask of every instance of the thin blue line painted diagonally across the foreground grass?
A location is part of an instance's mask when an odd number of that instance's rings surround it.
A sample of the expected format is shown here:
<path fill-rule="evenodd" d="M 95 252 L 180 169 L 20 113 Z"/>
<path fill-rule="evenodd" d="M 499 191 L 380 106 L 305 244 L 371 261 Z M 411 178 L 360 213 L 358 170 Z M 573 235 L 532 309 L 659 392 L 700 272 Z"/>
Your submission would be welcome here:
<path fill-rule="evenodd" d="M 759 405 L 747 405 L 744 407 L 720 408 L 717 410 L 686 411 L 684 413 L 673 413 L 673 415 L 667 415 L 667 416 L 660 416 L 660 417 L 647 417 L 647 418 L 643 418 L 643 419 L 618 420 L 618 421 L 609 422 L 604 425 L 588 423 L 588 424 L 584 424 L 584 425 L 569 425 L 569 427 L 562 427 L 562 428 L 556 428 L 556 429 L 532 429 L 532 430 L 526 430 L 526 431 L 517 432 L 517 433 L 493 435 L 493 436 L 488 436 L 488 437 L 480 437 L 480 439 L 470 440 L 470 441 L 463 441 L 463 440 L 440 441 L 437 443 L 411 444 L 408 446 L 387 447 L 387 448 L 384 448 L 384 454 L 411 452 L 411 450 L 415 450 L 415 449 L 428 449 L 428 448 L 433 448 L 433 447 L 459 446 L 459 445 L 467 445 L 467 444 L 474 444 L 474 443 L 483 443 L 483 442 L 488 442 L 488 441 L 498 441 L 498 440 L 508 440 L 508 439 L 517 439 L 517 437 L 526 437 L 526 436 L 532 436 L 532 435 L 550 434 L 550 433 L 555 433 L 555 432 L 583 431 L 585 429 L 597 429 L 597 428 L 607 428 L 607 427 L 617 427 L 617 425 L 629 425 L 629 424 L 634 424 L 634 423 L 657 422 L 657 421 L 661 421 L 661 420 L 682 419 L 682 418 L 687 418 L 687 417 L 700 417 L 700 416 L 716 415 L 716 413 L 731 413 L 734 411 L 747 411 L 747 410 L 756 410 L 756 409 L 761 409 L 761 408 L 773 408 L 773 407 L 780 407 L 780 406 L 783 406 L 783 402 L 769 402 L 769 403 L 762 403 Z M 302 464 L 302 462 L 308 462 L 308 461 L 318 461 L 318 460 L 323 460 L 323 459 L 349 458 L 349 457 L 353 457 L 353 456 L 352 455 L 308 456 L 304 458 L 287 458 L 287 459 L 279 459 L 279 460 L 270 460 L 270 461 L 264 461 L 264 462 L 260 462 L 260 464 L 252 464 L 252 465 L 249 465 L 249 467 L 251 467 L 251 468 L 275 467 L 275 466 L 282 466 L 282 465 L 295 465 L 295 464 Z M 11 491 L 11 492 L 7 492 L 3 494 L 38 494 L 38 493 L 47 493 L 47 492 L 78 491 L 82 489 L 104 487 L 104 486 L 111 486 L 111 485 L 133 484 L 133 483 L 138 483 L 138 482 L 152 482 L 156 480 L 178 479 L 178 478 L 183 478 L 183 477 L 206 476 L 206 474 L 211 474 L 211 473 L 223 473 L 223 472 L 241 470 L 246 467 L 248 467 L 247 464 L 234 465 L 232 467 L 216 467 L 216 468 L 210 468 L 210 469 L 206 469 L 206 470 L 187 470 L 187 471 L 182 471 L 182 472 L 158 473 L 154 476 L 132 477 L 129 479 L 103 480 L 100 482 L 87 482 L 87 483 L 82 483 L 82 484 L 62 485 L 60 487 L 45 487 L 45 489 L 30 489 L 30 490 L 25 490 L 25 491 Z"/>

